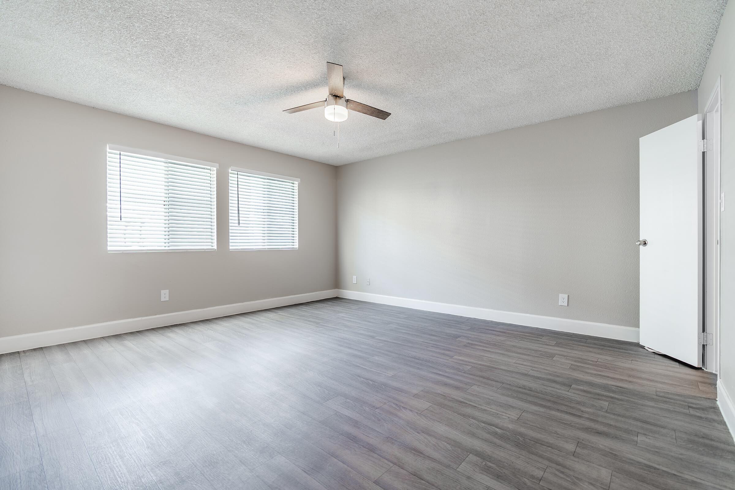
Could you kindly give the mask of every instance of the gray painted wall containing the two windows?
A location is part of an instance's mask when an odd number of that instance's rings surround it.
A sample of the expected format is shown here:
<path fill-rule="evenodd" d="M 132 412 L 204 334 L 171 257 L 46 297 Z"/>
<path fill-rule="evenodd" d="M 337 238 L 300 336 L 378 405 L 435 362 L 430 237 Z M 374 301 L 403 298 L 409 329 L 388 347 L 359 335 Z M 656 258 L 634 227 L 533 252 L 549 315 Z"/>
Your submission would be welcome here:
<path fill-rule="evenodd" d="M 334 289 L 335 167 L 4 86 L 0 114 L 0 336 Z M 218 251 L 107 253 L 107 143 L 218 163 Z M 301 178 L 298 251 L 229 251 L 230 165 Z"/>

